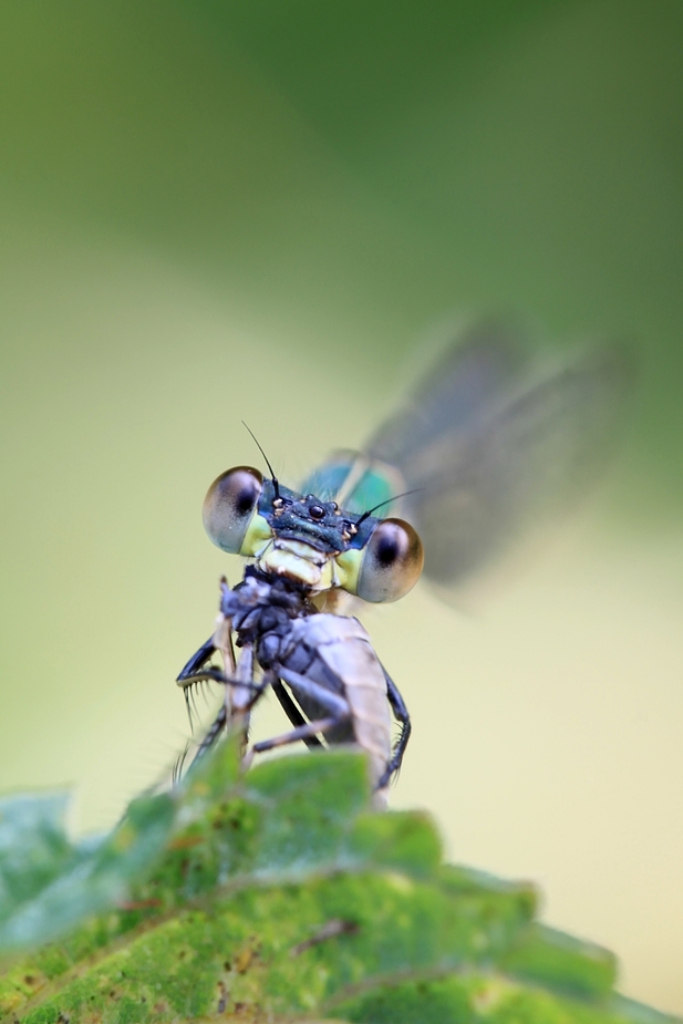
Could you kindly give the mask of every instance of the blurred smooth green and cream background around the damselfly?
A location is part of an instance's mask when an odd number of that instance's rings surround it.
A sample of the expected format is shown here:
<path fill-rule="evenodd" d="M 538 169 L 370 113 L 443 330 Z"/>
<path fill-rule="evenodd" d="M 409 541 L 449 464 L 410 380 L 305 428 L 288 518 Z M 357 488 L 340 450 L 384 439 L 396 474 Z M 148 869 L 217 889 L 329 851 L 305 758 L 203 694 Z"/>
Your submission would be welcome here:
<path fill-rule="evenodd" d="M 682 45 L 677 0 L 3 6 L 3 789 L 103 827 L 173 763 L 240 420 L 294 483 L 454 312 L 624 334 L 592 505 L 476 614 L 366 624 L 414 716 L 394 805 L 683 1012 Z"/>

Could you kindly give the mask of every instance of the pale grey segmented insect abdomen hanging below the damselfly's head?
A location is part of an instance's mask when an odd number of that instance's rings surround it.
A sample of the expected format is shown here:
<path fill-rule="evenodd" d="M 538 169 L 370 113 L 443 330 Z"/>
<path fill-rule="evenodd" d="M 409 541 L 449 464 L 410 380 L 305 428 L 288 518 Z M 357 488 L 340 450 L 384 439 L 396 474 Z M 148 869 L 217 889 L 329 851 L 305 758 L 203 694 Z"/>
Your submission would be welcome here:
<path fill-rule="evenodd" d="M 384 671 L 358 619 L 320 613 L 297 620 L 282 665 L 345 697 L 375 786 L 391 757 L 391 714 Z"/>

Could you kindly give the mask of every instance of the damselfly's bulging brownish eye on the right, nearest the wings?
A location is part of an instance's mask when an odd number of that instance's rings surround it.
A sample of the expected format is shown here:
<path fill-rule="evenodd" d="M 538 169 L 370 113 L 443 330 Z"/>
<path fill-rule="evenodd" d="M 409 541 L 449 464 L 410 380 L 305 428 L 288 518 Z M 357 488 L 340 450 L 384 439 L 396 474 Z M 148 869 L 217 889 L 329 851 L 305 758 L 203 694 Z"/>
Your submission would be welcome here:
<path fill-rule="evenodd" d="M 422 572 L 422 541 L 410 523 L 383 519 L 363 549 L 356 593 L 364 601 L 397 601 Z"/>

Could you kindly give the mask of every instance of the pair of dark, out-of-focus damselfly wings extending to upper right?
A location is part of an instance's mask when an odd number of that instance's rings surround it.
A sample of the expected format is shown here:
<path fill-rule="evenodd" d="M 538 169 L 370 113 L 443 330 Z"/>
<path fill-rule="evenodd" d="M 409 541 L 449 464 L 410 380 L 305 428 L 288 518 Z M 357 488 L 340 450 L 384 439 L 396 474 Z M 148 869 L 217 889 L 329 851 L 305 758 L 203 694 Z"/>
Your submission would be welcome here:
<path fill-rule="evenodd" d="M 476 325 L 365 449 L 417 489 L 402 515 L 442 590 L 567 510 L 619 433 L 632 377 L 623 349 L 596 348 L 544 373 L 521 351 L 509 327 Z"/>

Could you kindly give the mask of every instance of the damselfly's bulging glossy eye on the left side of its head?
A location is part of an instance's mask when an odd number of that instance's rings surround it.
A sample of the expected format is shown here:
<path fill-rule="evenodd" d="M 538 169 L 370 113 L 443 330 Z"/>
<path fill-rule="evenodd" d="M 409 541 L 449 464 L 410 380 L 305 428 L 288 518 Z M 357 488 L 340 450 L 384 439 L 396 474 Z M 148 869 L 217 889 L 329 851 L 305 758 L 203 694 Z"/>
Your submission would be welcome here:
<path fill-rule="evenodd" d="M 250 466 L 221 473 L 204 499 L 201 517 L 209 539 L 230 555 L 239 555 L 258 507 L 263 477 Z"/>

